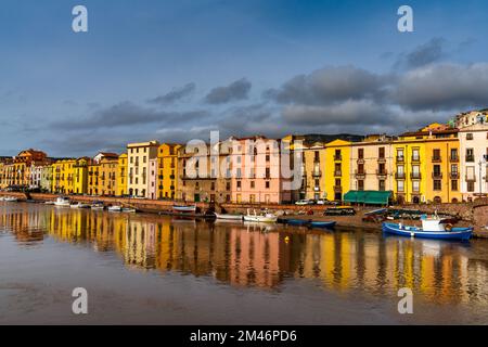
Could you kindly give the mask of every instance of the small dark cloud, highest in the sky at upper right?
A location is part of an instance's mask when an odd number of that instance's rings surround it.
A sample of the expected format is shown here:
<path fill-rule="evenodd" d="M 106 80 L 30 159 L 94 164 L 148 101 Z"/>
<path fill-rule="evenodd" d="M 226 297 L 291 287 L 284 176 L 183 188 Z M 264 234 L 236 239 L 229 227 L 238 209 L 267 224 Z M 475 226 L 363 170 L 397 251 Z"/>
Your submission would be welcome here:
<path fill-rule="evenodd" d="M 400 54 L 394 67 L 412 69 L 439 62 L 448 55 L 445 47 L 446 39 L 440 37 L 432 38 L 411 52 Z"/>

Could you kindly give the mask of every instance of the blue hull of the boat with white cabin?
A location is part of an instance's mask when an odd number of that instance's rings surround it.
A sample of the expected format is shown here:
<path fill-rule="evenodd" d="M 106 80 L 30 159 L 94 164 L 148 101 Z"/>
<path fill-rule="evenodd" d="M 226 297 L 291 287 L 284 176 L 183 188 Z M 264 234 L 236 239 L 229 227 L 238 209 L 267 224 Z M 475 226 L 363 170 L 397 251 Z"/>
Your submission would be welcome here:
<path fill-rule="evenodd" d="M 451 231 L 424 231 L 414 227 L 400 228 L 397 223 L 383 223 L 382 229 L 383 232 L 388 234 L 416 239 L 467 241 L 473 235 L 473 228 L 452 228 Z"/>

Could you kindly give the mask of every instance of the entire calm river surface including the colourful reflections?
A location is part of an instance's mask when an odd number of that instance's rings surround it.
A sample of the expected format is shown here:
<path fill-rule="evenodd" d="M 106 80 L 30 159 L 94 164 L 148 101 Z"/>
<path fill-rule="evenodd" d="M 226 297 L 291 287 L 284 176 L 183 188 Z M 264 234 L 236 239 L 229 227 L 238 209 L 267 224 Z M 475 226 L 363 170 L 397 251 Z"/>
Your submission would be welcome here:
<path fill-rule="evenodd" d="M 75 287 L 88 314 L 72 311 Z M 487 324 L 488 241 L 0 202 L 8 323 Z"/>

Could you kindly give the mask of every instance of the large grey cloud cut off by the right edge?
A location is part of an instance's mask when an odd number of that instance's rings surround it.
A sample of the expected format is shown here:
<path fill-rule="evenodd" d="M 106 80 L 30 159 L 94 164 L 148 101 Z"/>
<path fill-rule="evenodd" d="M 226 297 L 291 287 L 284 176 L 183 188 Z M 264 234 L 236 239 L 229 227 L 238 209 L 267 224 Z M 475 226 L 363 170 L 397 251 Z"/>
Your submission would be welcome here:
<path fill-rule="evenodd" d="M 391 95 L 414 111 L 447 111 L 488 105 L 488 63 L 436 64 L 402 75 Z"/>

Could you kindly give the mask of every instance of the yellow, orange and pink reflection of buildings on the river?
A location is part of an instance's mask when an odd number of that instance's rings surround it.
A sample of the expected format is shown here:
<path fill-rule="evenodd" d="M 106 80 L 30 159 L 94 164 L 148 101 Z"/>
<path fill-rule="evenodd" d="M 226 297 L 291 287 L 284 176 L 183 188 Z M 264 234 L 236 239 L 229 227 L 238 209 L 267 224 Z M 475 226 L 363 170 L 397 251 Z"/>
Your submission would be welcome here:
<path fill-rule="evenodd" d="M 279 288 L 285 278 L 326 290 L 394 296 L 411 287 L 431 301 L 488 303 L 488 242 L 471 244 L 208 223 L 1 203 L 0 230 L 21 245 L 47 236 L 114 252 L 130 268 L 211 275 L 236 286 Z M 318 281 L 317 281 L 318 280 Z"/>

